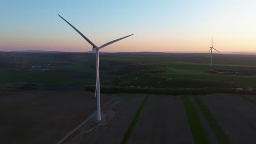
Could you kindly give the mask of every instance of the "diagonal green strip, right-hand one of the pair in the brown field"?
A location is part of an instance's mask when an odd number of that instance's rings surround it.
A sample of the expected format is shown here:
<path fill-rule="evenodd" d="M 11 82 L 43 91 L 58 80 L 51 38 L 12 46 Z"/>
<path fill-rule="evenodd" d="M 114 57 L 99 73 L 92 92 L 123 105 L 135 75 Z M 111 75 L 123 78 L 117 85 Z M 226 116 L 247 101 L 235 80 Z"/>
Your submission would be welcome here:
<path fill-rule="evenodd" d="M 202 100 L 197 96 L 195 96 L 194 99 L 196 101 L 196 104 L 200 107 L 203 115 L 206 117 L 207 122 L 210 124 L 210 127 L 214 135 L 216 136 L 216 139 L 218 140 L 218 142 L 220 144 L 231 143 L 228 139 L 228 136 L 226 136 L 224 130 L 222 129 L 222 127 L 220 127 L 218 122 L 213 117 L 212 113 L 207 109 L 206 105 L 203 104 Z"/>

